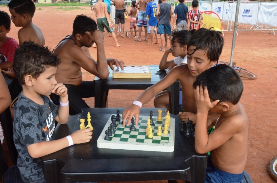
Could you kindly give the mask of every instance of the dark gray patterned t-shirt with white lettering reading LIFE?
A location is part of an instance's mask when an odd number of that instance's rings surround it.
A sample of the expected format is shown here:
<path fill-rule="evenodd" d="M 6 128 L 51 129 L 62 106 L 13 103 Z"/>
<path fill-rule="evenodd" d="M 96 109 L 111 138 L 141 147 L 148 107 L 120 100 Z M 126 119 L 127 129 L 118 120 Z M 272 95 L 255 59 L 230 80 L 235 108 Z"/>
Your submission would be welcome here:
<path fill-rule="evenodd" d="M 39 105 L 22 93 L 14 107 L 14 144 L 18 152 L 17 166 L 25 183 L 44 182 L 40 158 L 32 158 L 27 146 L 49 141 L 55 129 L 54 118 L 59 107 L 48 97 L 41 95 L 44 105 Z"/>

